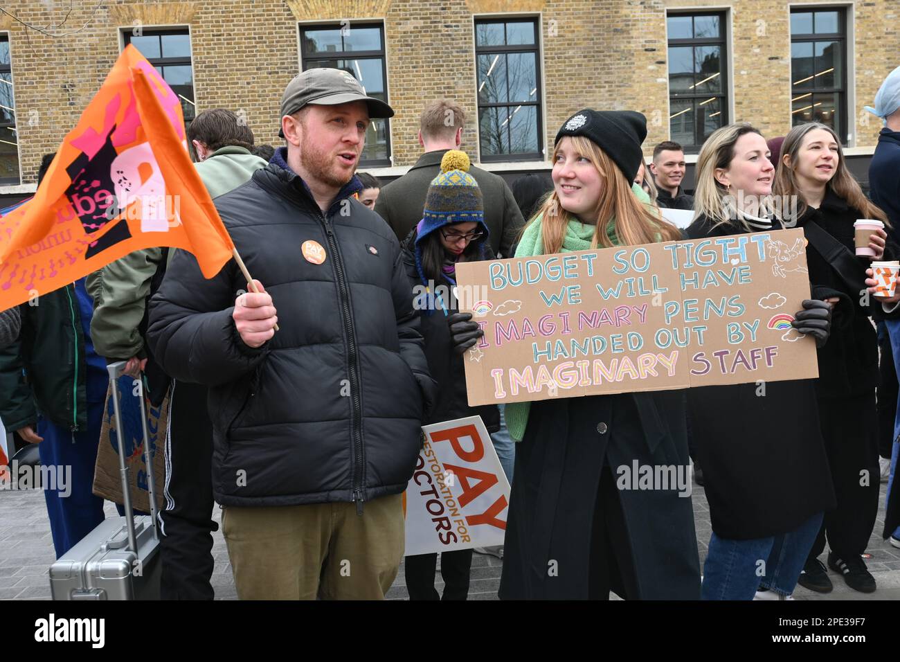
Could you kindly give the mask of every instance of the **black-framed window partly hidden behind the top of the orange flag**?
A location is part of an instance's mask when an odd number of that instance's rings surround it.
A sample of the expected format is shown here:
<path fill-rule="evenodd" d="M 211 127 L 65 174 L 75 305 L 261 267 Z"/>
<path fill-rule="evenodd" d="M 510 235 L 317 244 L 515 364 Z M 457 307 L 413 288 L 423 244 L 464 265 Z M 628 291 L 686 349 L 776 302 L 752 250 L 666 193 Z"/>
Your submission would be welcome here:
<path fill-rule="evenodd" d="M 125 32 L 124 36 L 125 45 L 132 44 L 138 49 L 178 95 L 187 127 L 197 114 L 193 103 L 190 32 L 187 28 L 136 30 Z"/>

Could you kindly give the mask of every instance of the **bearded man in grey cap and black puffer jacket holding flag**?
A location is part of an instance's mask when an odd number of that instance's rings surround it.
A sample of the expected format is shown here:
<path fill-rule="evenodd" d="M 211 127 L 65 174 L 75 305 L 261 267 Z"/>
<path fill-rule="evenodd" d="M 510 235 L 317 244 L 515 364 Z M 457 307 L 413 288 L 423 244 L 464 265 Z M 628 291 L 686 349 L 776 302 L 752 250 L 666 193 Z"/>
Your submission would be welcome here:
<path fill-rule="evenodd" d="M 393 111 L 318 68 L 281 112 L 287 144 L 214 201 L 259 291 L 233 261 L 206 280 L 177 251 L 150 342 L 166 373 L 211 387 L 238 597 L 382 599 L 434 388 L 400 242 L 355 199 L 370 119 Z"/>

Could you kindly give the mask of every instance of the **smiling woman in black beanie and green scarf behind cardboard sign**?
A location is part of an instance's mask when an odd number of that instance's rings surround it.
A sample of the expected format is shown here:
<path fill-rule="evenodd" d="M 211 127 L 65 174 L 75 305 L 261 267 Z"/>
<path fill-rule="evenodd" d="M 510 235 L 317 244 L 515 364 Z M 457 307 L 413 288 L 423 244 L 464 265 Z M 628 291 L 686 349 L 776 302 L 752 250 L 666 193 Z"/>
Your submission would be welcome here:
<path fill-rule="evenodd" d="M 556 134 L 554 193 L 516 257 L 677 240 L 639 186 L 646 119 L 575 113 Z M 601 254 L 602 256 L 602 254 Z M 697 599 L 689 498 L 617 489 L 615 467 L 681 467 L 688 476 L 683 391 L 553 398 L 506 405 L 516 449 L 500 597 Z"/>

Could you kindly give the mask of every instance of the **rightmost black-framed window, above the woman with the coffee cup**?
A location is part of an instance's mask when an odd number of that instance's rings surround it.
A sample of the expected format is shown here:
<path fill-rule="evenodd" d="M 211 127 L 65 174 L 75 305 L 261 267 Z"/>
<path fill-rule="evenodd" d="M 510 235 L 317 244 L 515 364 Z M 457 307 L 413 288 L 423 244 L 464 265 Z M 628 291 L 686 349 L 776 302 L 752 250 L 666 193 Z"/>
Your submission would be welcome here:
<path fill-rule="evenodd" d="M 791 125 L 822 122 L 847 144 L 847 14 L 843 9 L 792 9 Z"/>

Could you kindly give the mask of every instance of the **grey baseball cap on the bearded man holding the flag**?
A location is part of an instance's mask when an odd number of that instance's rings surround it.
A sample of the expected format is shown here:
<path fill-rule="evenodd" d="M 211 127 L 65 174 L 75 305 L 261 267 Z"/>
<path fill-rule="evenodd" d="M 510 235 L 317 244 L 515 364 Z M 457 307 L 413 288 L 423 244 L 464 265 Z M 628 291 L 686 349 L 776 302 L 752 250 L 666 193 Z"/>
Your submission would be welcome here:
<path fill-rule="evenodd" d="M 307 104 L 338 105 L 365 101 L 369 117 L 393 117 L 393 108 L 381 99 L 365 94 L 365 89 L 353 74 L 344 69 L 307 69 L 287 84 L 282 96 L 281 117 L 293 115 Z M 282 131 L 278 136 L 284 138 Z"/>

